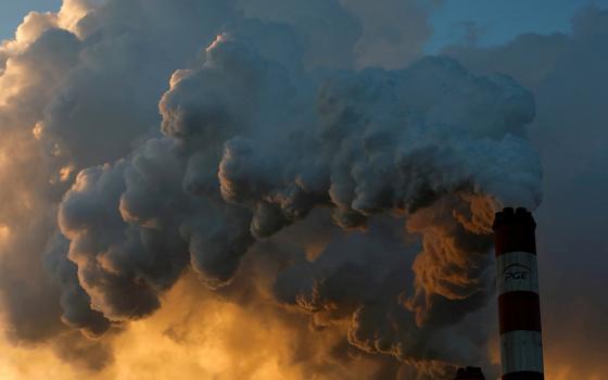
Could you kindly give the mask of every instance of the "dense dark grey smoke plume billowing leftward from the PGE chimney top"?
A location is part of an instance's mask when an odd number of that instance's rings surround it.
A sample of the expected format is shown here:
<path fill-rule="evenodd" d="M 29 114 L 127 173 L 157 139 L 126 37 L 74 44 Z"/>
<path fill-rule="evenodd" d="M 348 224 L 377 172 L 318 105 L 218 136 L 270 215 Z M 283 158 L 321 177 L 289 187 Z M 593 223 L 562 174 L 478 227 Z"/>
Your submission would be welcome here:
<path fill-rule="evenodd" d="M 277 299 L 320 326 L 351 319 L 349 340 L 366 352 L 451 363 L 436 330 L 484 303 L 494 203 L 540 200 L 522 129 L 532 98 L 447 59 L 307 74 L 273 61 L 262 37 L 266 54 L 246 42 L 220 34 L 173 75 L 160 103 L 166 137 L 81 172 L 64 197 L 60 227 L 92 309 L 113 321 L 149 315 L 188 261 L 207 286 L 227 286 L 256 239 L 316 207 L 346 229 L 390 212 L 421 246 L 346 235 L 360 258 L 330 242 L 279 274 Z"/>

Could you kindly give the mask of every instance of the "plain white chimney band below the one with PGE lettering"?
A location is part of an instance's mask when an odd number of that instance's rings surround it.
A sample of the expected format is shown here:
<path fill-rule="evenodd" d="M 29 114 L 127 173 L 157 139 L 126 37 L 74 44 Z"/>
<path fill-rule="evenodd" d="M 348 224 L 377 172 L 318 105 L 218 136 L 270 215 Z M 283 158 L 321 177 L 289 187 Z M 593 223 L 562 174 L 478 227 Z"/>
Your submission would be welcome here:
<path fill-rule="evenodd" d="M 543 341 L 537 331 L 517 330 L 501 335 L 503 375 L 543 372 Z"/>

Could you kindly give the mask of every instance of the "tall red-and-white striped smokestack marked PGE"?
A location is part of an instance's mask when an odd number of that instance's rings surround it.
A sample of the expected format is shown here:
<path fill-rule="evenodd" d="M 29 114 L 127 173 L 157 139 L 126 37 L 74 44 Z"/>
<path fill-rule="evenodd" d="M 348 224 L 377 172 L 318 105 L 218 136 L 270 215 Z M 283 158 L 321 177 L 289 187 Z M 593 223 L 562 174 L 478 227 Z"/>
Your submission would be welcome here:
<path fill-rule="evenodd" d="M 504 208 L 492 226 L 496 248 L 503 380 L 537 380 L 543 375 L 543 342 L 536 223 L 525 208 Z"/>

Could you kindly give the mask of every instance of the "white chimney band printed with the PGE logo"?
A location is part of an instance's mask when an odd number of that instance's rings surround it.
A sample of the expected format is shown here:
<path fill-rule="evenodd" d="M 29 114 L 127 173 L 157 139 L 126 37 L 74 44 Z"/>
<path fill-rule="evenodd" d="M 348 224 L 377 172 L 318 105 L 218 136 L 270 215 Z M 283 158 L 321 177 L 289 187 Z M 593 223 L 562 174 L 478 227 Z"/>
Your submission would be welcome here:
<path fill-rule="evenodd" d="M 539 293 L 536 255 L 529 252 L 509 252 L 496 257 L 498 294 L 528 291 Z"/>

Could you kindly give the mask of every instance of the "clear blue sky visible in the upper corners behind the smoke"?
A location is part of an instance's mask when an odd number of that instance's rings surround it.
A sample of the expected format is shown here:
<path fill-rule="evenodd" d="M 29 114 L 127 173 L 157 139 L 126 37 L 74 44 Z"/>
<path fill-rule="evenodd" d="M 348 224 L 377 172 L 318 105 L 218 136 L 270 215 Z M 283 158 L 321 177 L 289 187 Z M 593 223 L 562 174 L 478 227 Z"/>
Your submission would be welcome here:
<path fill-rule="evenodd" d="M 592 3 L 608 7 L 608 0 L 444 0 L 431 16 L 434 34 L 426 51 L 463 42 L 467 30 L 474 31 L 480 46 L 498 45 L 527 31 L 568 33 L 572 14 Z M 0 39 L 12 37 L 29 11 L 56 11 L 60 5 L 61 0 L 2 0 Z"/>

